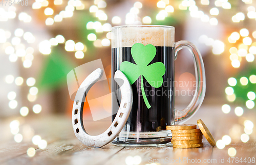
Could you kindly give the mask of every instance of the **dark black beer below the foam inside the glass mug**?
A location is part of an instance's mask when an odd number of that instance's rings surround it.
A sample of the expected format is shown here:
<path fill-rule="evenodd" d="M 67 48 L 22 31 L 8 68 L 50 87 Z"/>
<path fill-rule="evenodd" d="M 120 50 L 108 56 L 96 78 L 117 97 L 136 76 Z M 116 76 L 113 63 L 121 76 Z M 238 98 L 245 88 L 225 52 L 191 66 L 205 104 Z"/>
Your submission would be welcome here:
<path fill-rule="evenodd" d="M 152 87 L 145 77 L 143 77 L 144 91 L 151 107 L 148 109 L 141 92 L 141 77 L 134 84 L 133 89 L 133 106 L 131 114 L 124 126 L 123 131 L 132 132 L 148 132 L 156 131 L 157 127 L 173 124 L 174 114 L 174 47 L 156 46 L 156 56 L 150 62 L 151 65 L 161 62 L 165 66 L 165 74 L 163 75 L 163 84 L 159 88 Z M 117 61 L 118 60 L 118 61 Z M 134 59 L 131 54 L 131 47 L 112 48 L 112 77 L 116 70 L 119 69 L 122 62 L 128 61 L 133 64 Z M 114 92 L 117 101 L 121 101 L 121 93 L 118 85 L 112 79 L 112 92 Z M 112 99 L 112 102 L 115 101 Z M 118 109 L 113 109 L 113 120 Z"/>

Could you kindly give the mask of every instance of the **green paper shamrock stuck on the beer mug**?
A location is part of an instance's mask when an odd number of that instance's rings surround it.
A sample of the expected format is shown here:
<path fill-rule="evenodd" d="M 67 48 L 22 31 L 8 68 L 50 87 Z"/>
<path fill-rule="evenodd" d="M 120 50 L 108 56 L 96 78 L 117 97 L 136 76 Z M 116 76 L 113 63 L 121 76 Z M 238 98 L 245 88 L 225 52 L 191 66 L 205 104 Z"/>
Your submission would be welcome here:
<path fill-rule="evenodd" d="M 141 92 L 147 108 L 150 108 L 151 105 L 148 103 L 144 91 L 143 76 L 152 87 L 159 88 L 163 84 L 162 76 L 165 73 L 165 66 L 161 62 L 148 65 L 156 56 L 156 52 L 156 47 L 151 44 L 144 46 L 141 43 L 136 43 L 132 46 L 131 53 L 137 65 L 127 61 L 122 62 L 120 65 L 120 70 L 130 80 L 131 85 L 134 84 L 140 76 Z"/>

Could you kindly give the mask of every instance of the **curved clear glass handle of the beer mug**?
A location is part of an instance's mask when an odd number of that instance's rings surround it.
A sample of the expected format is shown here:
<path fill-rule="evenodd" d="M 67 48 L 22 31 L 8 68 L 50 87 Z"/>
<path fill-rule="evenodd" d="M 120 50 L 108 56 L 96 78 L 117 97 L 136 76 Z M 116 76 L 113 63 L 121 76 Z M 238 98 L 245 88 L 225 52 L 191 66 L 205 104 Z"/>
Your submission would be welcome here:
<path fill-rule="evenodd" d="M 179 50 L 187 48 L 193 54 L 193 61 L 195 65 L 195 75 L 196 75 L 196 92 L 193 96 L 193 99 L 188 104 L 185 109 L 179 110 L 174 109 L 174 121 L 175 124 L 181 124 L 191 118 L 201 106 L 206 90 L 206 83 L 205 83 L 205 70 L 204 70 L 204 63 L 198 48 L 189 41 L 178 41 L 175 43 L 175 60 L 177 59 L 177 54 Z M 186 119 L 186 120 L 184 120 Z"/>

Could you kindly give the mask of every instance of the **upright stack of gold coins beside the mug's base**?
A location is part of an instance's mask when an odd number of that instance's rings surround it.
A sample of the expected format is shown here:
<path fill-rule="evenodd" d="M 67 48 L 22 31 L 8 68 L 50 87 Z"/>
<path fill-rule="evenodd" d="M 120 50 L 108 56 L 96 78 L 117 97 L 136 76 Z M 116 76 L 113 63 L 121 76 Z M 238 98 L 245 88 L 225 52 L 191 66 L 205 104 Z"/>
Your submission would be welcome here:
<path fill-rule="evenodd" d="M 197 125 L 168 125 L 166 129 L 171 130 L 173 133 L 172 143 L 174 148 L 203 147 L 203 134 L 200 129 L 197 129 Z"/>

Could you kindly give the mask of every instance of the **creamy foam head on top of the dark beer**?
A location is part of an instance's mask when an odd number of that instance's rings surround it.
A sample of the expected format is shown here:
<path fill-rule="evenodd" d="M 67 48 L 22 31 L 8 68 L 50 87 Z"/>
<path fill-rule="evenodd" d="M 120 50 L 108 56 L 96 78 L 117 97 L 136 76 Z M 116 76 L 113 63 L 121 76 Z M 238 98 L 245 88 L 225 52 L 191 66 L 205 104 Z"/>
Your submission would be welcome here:
<path fill-rule="evenodd" d="M 174 47 L 175 29 L 170 26 L 121 26 L 112 29 L 112 48 L 143 45 Z"/>

